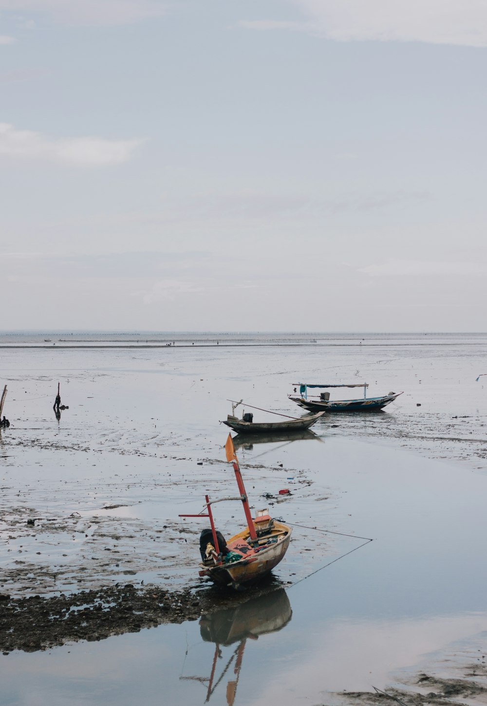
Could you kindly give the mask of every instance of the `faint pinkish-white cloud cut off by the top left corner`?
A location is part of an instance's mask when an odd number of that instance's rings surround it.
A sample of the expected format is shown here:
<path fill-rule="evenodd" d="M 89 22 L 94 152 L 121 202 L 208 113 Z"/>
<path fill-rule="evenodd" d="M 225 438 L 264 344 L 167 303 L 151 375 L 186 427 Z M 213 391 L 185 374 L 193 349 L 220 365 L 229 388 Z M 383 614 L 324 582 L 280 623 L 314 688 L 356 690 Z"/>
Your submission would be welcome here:
<path fill-rule="evenodd" d="M 0 11 L 44 13 L 68 25 L 128 25 L 160 17 L 162 0 L 0 0 Z"/>

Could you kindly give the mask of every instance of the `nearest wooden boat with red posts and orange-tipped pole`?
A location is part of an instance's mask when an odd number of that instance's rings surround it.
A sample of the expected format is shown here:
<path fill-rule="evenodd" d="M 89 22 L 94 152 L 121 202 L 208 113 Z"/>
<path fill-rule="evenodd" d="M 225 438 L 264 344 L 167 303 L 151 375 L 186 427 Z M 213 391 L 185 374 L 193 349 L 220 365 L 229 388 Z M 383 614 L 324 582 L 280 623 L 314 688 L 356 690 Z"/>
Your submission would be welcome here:
<path fill-rule="evenodd" d="M 179 516 L 208 517 L 210 520 L 211 529 L 203 530 L 200 534 L 200 576 L 205 576 L 215 583 L 239 589 L 257 582 L 277 566 L 289 547 L 292 530 L 281 520 L 272 519 L 267 510 L 259 510 L 257 516 L 252 517 L 239 461 L 230 435 L 227 438 L 225 450 L 227 461 L 233 462 L 236 482 L 241 494 L 237 498 L 222 498 L 222 500 L 241 500 L 247 526 L 226 541 L 215 529 L 212 502 L 208 495 L 205 496 L 207 513 Z M 217 502 L 219 501 L 213 501 L 213 503 Z"/>

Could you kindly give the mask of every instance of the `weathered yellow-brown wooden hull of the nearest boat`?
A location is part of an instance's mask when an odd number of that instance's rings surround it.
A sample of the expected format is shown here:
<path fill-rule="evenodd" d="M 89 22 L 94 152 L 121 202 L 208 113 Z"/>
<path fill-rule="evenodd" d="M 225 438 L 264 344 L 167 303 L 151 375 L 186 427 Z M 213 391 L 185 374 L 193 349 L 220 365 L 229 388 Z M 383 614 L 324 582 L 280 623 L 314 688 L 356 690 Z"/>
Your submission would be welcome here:
<path fill-rule="evenodd" d="M 270 546 L 260 549 L 258 554 L 251 554 L 231 564 L 223 563 L 220 566 L 210 567 L 200 564 L 203 566 L 203 571 L 200 573 L 208 576 L 217 584 L 234 588 L 252 585 L 260 581 L 282 561 L 289 547 L 289 542 L 291 542 L 291 527 L 284 525 L 283 522 L 277 522 L 277 520 L 274 520 L 274 527 L 278 537 L 275 544 L 270 544 Z M 228 543 L 245 537 L 248 537 L 248 529 L 231 537 Z"/>

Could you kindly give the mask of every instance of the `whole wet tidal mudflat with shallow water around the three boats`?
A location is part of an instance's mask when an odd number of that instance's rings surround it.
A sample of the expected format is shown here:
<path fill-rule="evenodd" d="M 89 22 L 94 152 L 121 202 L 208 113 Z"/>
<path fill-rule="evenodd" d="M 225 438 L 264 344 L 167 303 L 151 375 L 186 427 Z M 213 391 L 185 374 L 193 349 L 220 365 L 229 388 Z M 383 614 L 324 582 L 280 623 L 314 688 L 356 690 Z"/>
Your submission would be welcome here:
<path fill-rule="evenodd" d="M 485 701 L 487 337 L 193 342 L 1 350 L 0 703 Z M 361 381 L 404 395 L 239 447 L 254 508 L 293 541 L 262 589 L 216 592 L 179 514 L 234 494 L 227 398 L 299 416 L 291 383 Z M 241 508 L 215 508 L 232 534 Z"/>

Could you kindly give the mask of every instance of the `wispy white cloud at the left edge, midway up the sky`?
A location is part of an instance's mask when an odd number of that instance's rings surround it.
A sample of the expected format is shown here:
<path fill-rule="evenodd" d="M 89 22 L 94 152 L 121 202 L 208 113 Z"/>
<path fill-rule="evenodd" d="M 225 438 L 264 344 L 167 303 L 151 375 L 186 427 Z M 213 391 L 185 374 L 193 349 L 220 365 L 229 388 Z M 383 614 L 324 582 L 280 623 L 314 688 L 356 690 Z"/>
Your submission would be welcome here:
<path fill-rule="evenodd" d="M 51 138 L 0 123 L 0 157 L 49 160 L 74 166 L 104 167 L 126 162 L 143 140 L 105 140 L 98 137 Z"/>

